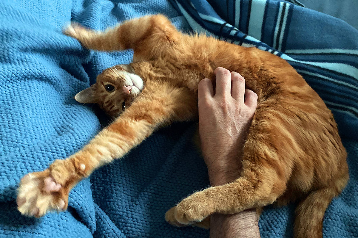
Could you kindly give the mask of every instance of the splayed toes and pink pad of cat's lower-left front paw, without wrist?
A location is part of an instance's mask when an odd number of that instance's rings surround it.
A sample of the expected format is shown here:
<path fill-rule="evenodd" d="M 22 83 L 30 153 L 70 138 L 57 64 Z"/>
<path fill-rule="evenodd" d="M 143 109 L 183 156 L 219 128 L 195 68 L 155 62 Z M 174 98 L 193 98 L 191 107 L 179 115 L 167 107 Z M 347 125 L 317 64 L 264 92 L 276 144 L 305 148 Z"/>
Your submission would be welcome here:
<path fill-rule="evenodd" d="M 50 176 L 49 170 L 29 173 L 19 184 L 16 203 L 21 214 L 41 217 L 67 208 L 68 192 Z"/>

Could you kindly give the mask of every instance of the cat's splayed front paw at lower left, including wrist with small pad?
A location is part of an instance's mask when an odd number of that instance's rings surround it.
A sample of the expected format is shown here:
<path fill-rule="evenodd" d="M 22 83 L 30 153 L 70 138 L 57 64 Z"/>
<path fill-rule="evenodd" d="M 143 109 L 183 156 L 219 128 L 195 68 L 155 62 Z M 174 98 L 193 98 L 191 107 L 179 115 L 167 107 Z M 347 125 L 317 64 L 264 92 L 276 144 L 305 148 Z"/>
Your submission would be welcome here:
<path fill-rule="evenodd" d="M 83 177 L 86 166 L 71 159 L 56 159 L 48 169 L 26 174 L 18 188 L 18 210 L 34 217 L 66 210 L 69 191 Z"/>

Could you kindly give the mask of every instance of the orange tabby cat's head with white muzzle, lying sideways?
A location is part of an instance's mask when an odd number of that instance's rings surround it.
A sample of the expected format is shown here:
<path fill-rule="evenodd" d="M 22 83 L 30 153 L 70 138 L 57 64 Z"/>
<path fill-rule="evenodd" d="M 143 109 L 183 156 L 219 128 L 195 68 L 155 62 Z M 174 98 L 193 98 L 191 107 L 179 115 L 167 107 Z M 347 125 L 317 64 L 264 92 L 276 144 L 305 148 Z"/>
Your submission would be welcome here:
<path fill-rule="evenodd" d="M 77 93 L 80 103 L 97 103 L 109 116 L 118 116 L 129 107 L 143 89 L 140 76 L 130 66 L 118 65 L 103 70 L 91 87 Z"/>

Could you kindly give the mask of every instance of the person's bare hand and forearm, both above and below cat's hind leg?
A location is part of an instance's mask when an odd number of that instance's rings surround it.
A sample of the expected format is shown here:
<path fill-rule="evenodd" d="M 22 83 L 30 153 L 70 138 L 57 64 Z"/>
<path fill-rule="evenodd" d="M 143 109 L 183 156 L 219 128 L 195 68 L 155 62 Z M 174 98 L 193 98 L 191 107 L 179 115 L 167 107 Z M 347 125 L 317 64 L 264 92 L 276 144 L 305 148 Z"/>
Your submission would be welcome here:
<path fill-rule="evenodd" d="M 245 79 L 240 74 L 223 68 L 217 68 L 214 74 L 215 93 L 210 80 L 199 83 L 199 133 L 210 183 L 220 186 L 240 177 L 240 156 L 257 107 L 257 95 L 245 89 Z M 256 210 L 212 214 L 210 237 L 260 237 Z"/>

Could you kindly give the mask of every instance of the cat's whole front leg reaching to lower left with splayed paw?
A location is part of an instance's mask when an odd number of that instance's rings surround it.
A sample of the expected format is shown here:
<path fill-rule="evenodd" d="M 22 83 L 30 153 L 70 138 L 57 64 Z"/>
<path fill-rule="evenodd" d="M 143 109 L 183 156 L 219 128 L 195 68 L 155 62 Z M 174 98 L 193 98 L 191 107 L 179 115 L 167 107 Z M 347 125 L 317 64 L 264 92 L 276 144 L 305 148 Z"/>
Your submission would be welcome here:
<path fill-rule="evenodd" d="M 45 171 L 25 175 L 18 188 L 18 210 L 40 217 L 66 209 L 69 191 L 94 169 L 124 156 L 158 126 L 192 120 L 197 114 L 192 94 L 168 83 L 147 82 L 132 105 L 82 150 L 54 161 Z"/>

